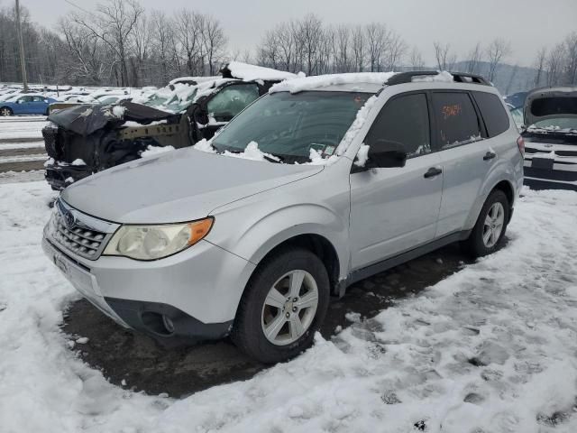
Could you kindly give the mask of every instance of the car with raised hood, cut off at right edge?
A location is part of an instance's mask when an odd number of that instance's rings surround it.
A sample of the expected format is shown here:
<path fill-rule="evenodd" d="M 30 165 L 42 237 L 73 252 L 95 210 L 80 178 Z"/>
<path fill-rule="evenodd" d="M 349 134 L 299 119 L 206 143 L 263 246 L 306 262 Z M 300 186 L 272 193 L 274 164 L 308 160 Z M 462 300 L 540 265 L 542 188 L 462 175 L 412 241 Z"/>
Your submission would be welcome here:
<path fill-rule="evenodd" d="M 577 87 L 533 90 L 523 116 L 525 184 L 577 190 Z"/>

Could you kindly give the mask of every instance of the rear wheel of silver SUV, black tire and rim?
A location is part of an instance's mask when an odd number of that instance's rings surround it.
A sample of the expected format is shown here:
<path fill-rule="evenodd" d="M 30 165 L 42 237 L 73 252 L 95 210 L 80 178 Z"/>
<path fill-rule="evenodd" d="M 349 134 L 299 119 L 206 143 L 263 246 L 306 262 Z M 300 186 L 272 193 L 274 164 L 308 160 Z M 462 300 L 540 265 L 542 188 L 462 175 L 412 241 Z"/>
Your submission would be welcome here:
<path fill-rule="evenodd" d="M 509 212 L 510 207 L 505 193 L 500 189 L 492 191 L 481 208 L 471 235 L 462 243 L 465 253 L 475 258 L 499 250 L 507 231 Z"/>

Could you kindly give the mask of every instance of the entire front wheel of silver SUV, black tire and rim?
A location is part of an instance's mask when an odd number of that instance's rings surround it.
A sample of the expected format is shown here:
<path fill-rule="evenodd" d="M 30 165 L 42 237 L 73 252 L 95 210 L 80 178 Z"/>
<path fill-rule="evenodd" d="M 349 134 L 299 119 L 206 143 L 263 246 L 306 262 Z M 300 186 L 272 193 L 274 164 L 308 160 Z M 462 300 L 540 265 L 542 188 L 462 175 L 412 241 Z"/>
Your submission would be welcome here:
<path fill-rule="evenodd" d="M 290 293 L 292 281 L 298 287 L 296 297 L 294 290 Z M 315 286 L 316 309 L 312 307 Z M 264 364 L 297 356 L 312 345 L 325 319 L 329 296 L 325 265 L 314 253 L 297 247 L 273 253 L 259 264 L 244 290 L 231 333 L 234 344 Z"/>

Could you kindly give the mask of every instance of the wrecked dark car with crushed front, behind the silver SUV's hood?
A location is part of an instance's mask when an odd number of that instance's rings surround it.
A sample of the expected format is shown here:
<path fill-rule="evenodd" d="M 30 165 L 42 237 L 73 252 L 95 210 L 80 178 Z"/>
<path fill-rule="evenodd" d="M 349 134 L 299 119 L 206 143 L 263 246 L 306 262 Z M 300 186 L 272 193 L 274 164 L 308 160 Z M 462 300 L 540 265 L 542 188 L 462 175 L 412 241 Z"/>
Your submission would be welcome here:
<path fill-rule="evenodd" d="M 210 139 L 258 97 L 295 74 L 230 62 L 221 77 L 175 81 L 115 105 L 74 106 L 48 117 L 42 130 L 45 178 L 61 190 L 101 170 L 158 148 Z"/>

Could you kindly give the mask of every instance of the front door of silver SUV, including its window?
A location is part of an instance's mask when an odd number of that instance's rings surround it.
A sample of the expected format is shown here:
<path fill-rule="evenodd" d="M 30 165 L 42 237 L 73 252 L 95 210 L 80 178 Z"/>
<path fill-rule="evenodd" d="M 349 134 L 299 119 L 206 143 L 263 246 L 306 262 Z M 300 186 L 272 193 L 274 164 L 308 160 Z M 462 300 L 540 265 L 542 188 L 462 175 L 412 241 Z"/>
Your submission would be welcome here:
<path fill-rule="evenodd" d="M 393 97 L 365 137 L 400 143 L 405 167 L 351 173 L 352 270 L 427 244 L 435 238 L 443 190 L 443 171 L 431 152 L 426 93 Z"/>

